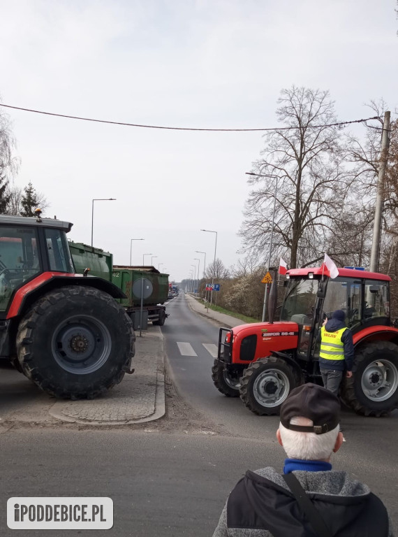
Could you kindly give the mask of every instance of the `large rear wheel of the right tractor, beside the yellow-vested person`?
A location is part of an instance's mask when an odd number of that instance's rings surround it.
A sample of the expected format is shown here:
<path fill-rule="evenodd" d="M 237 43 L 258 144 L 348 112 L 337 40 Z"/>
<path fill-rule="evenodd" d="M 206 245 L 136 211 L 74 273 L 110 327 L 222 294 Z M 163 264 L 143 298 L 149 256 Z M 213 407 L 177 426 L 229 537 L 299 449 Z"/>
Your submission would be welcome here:
<path fill-rule="evenodd" d="M 365 416 L 385 416 L 398 408 L 398 346 L 375 341 L 360 348 L 353 376 L 342 383 L 341 399 Z"/>

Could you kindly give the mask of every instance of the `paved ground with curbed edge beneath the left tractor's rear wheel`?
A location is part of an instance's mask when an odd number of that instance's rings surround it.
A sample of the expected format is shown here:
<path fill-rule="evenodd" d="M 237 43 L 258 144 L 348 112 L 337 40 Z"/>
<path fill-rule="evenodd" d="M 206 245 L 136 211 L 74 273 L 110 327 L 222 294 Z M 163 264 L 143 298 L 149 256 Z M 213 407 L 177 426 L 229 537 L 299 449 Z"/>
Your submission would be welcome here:
<path fill-rule="evenodd" d="M 103 397 L 68 401 L 40 392 L 21 373 L 4 368 L 0 375 L 0 424 L 60 422 L 82 425 L 128 425 L 157 420 L 165 414 L 164 350 L 160 327 L 149 325 L 135 342 L 132 375 Z"/>

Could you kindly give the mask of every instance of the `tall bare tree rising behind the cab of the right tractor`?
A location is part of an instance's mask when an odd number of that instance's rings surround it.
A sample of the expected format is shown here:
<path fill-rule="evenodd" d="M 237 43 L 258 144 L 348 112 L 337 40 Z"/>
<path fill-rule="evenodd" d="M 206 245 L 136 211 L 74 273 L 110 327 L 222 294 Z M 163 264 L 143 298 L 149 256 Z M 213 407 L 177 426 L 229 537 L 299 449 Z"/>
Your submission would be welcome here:
<path fill-rule="evenodd" d="M 265 135 L 263 158 L 254 168 L 263 177 L 249 180 L 255 188 L 246 201 L 239 234 L 246 247 L 269 249 L 275 182 L 275 250 L 290 250 L 290 267 L 319 252 L 346 196 L 344 154 L 328 92 L 292 87 L 282 90 L 277 117 L 288 130 Z"/>

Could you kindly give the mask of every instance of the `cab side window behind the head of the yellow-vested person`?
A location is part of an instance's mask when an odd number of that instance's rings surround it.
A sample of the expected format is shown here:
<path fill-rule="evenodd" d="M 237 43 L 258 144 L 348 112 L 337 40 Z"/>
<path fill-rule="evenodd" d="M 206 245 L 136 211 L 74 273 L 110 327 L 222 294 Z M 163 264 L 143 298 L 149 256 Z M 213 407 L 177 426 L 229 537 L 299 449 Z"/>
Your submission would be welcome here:
<path fill-rule="evenodd" d="M 329 319 L 334 310 L 346 313 L 346 326 L 354 327 L 361 319 L 361 280 L 336 278 L 327 282 L 327 292 L 323 302 L 323 313 Z"/>

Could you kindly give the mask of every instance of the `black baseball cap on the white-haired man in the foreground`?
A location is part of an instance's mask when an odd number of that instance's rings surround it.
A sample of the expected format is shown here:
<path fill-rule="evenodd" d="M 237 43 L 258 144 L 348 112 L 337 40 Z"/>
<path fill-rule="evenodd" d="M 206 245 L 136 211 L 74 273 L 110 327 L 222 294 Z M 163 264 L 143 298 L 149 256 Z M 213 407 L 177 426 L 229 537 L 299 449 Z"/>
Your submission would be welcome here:
<path fill-rule="evenodd" d="M 314 425 L 290 424 L 292 417 L 307 417 Z M 340 422 L 340 401 L 329 390 L 308 382 L 292 389 L 281 406 L 281 424 L 290 431 L 323 434 Z"/>

